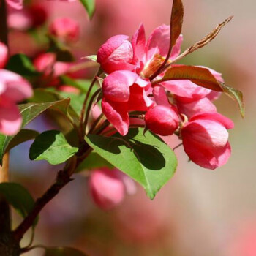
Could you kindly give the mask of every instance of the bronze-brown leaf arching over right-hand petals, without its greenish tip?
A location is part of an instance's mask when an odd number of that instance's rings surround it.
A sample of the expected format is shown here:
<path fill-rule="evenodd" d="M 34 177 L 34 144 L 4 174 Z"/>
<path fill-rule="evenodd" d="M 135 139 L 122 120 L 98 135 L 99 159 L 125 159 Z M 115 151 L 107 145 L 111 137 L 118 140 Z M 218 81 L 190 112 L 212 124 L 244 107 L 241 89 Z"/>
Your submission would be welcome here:
<path fill-rule="evenodd" d="M 203 67 L 178 65 L 166 70 L 161 81 L 167 80 L 191 80 L 198 86 L 205 87 L 214 91 L 222 91 L 219 82 L 211 72 Z"/>

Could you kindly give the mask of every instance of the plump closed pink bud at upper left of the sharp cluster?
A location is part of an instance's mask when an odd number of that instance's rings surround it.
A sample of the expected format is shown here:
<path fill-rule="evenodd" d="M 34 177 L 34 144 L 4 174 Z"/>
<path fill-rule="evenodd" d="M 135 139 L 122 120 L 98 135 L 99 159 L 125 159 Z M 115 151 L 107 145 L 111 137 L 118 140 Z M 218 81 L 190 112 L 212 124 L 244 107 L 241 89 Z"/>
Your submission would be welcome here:
<path fill-rule="evenodd" d="M 133 50 L 131 43 L 125 35 L 110 37 L 103 44 L 97 53 L 97 61 L 101 64 L 102 69 L 111 73 L 116 70 L 132 70 Z"/>

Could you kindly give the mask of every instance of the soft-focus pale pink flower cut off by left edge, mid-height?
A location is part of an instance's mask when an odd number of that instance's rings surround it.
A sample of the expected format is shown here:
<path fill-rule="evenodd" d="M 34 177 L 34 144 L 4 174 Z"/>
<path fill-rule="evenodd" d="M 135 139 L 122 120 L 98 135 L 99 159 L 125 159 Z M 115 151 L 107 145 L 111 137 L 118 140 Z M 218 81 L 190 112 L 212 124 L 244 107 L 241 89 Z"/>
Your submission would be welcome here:
<path fill-rule="evenodd" d="M 22 118 L 17 102 L 31 97 L 30 84 L 20 75 L 0 69 L 0 132 L 14 135 L 20 129 Z"/>

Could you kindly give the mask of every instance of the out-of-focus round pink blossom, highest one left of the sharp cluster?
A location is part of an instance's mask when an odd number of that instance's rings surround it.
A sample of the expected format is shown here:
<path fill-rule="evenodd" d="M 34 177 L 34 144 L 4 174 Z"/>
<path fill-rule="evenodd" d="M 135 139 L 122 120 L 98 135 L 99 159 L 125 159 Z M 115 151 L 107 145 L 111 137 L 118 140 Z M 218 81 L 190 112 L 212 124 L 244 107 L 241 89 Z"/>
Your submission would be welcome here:
<path fill-rule="evenodd" d="M 79 38 L 79 25 L 71 18 L 56 18 L 50 24 L 49 32 L 64 42 L 75 42 Z"/>

